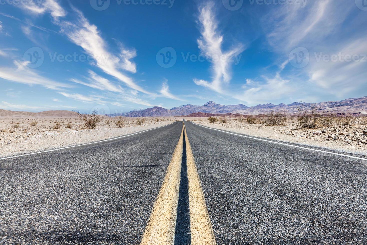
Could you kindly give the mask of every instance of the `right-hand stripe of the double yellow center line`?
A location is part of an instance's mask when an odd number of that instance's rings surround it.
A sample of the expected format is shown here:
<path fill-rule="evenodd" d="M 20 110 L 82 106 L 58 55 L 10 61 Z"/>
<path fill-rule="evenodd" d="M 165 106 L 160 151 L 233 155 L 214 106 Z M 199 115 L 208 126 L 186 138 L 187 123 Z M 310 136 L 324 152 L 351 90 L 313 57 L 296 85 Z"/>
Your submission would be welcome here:
<path fill-rule="evenodd" d="M 213 228 L 185 127 L 186 165 L 189 180 L 191 244 L 216 244 Z"/>

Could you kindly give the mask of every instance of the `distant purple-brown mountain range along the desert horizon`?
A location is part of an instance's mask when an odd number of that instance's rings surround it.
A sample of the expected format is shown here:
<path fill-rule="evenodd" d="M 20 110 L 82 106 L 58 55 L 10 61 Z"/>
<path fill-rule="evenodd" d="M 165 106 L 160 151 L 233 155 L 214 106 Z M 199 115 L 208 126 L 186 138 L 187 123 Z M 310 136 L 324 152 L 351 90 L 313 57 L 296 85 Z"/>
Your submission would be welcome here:
<path fill-rule="evenodd" d="M 109 114 L 106 116 L 127 116 L 127 117 L 144 117 L 144 116 L 185 116 L 195 114 L 197 112 L 203 112 L 206 114 L 245 114 L 245 115 L 258 115 L 266 114 L 270 111 L 284 111 L 287 114 L 297 114 L 298 108 L 311 108 L 316 106 L 319 112 L 326 114 L 338 114 L 338 113 L 352 113 L 355 115 L 367 114 L 367 96 L 361 98 L 350 98 L 341 101 L 327 101 L 320 103 L 306 103 L 306 102 L 293 102 L 292 104 L 264 104 L 248 107 L 243 104 L 239 105 L 221 105 L 213 101 L 209 101 L 204 105 L 181 105 L 172 109 L 165 109 L 163 107 L 152 107 L 143 110 L 133 110 L 130 112 L 120 114 Z"/>

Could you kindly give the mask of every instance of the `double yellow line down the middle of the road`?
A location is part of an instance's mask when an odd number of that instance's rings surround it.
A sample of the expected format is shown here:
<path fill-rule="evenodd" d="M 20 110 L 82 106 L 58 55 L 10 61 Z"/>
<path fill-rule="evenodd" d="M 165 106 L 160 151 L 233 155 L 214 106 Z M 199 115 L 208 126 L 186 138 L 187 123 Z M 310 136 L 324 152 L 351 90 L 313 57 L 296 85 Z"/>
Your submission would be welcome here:
<path fill-rule="evenodd" d="M 189 182 L 191 244 L 216 244 L 194 156 L 183 123 L 181 136 L 145 228 L 142 245 L 174 244 L 184 137 Z"/>

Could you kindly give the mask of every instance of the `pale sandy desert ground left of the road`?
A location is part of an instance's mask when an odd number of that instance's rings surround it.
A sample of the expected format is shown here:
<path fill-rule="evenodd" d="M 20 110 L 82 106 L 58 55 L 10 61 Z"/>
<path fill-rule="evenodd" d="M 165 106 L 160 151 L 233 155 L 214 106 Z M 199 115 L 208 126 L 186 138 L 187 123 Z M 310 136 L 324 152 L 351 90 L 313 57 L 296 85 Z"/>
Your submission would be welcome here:
<path fill-rule="evenodd" d="M 104 118 L 93 130 L 86 129 L 78 118 L 1 118 L 0 157 L 106 140 L 168 125 L 175 121 L 171 118 L 159 118 L 159 122 L 156 122 L 155 118 L 146 118 L 142 125 L 137 125 L 138 119 L 124 118 L 124 127 L 118 128 L 117 118 Z M 37 124 L 32 126 L 32 122 Z M 60 125 L 59 129 L 55 129 L 57 123 Z"/>

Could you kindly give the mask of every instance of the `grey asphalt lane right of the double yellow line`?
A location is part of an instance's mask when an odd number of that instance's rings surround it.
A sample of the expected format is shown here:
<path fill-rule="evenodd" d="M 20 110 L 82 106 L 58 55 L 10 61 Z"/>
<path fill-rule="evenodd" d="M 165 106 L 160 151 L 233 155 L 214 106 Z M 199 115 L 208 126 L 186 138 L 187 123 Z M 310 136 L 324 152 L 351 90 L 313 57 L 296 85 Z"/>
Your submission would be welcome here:
<path fill-rule="evenodd" d="M 218 244 L 367 243 L 367 161 L 185 125 Z"/>

